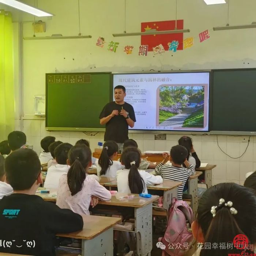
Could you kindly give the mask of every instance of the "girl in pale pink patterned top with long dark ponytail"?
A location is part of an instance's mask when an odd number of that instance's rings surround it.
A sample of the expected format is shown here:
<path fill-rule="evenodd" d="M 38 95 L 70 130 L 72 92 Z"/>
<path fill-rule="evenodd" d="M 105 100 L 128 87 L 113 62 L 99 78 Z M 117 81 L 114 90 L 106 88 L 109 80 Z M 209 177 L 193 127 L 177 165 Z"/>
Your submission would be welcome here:
<path fill-rule="evenodd" d="M 57 191 L 56 204 L 60 208 L 68 208 L 78 214 L 89 215 L 91 197 L 107 201 L 110 192 L 97 180 L 87 174 L 91 166 L 91 150 L 84 144 L 78 144 L 68 153 L 68 173 L 61 176 Z"/>

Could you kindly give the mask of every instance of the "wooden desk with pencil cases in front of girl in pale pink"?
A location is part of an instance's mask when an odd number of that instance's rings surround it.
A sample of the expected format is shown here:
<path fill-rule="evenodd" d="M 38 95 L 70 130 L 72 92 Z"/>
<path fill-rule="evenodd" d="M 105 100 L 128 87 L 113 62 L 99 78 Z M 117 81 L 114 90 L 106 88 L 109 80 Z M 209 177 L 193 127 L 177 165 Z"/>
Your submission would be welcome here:
<path fill-rule="evenodd" d="M 46 201 L 56 202 L 56 196 L 55 197 L 51 196 L 51 195 L 54 195 L 54 193 L 56 194 L 56 189 L 55 190 L 50 189 L 50 194 L 48 195 L 44 193 L 37 193 L 36 195 L 41 196 Z M 113 209 L 116 209 L 116 206 L 133 208 L 134 217 L 135 217 L 134 231 L 136 234 L 136 241 L 137 241 L 137 253 L 138 255 L 142 255 L 142 256 L 146 256 L 146 255 L 150 256 L 150 252 L 153 246 L 152 245 L 152 208 L 153 208 L 152 203 L 155 200 L 157 200 L 159 196 L 144 198 L 136 194 L 134 199 L 123 200 L 123 201 L 119 200 L 120 196 L 126 196 L 126 195 L 134 195 L 134 194 L 116 193 L 115 195 L 112 195 L 111 200 L 99 201 L 98 205 L 107 205 L 110 207 L 113 206 Z M 94 208 L 96 207 L 97 206 L 95 206 Z M 66 234 L 63 234 L 63 236 L 66 236 Z M 110 233 L 108 234 L 108 236 L 110 236 Z M 113 234 L 111 234 L 111 236 L 113 238 Z M 95 247 L 99 246 L 99 243 L 98 244 L 94 243 L 94 246 Z M 83 247 L 82 247 L 82 251 L 83 251 Z M 92 254 L 88 253 L 87 255 L 92 255 Z M 104 253 L 98 253 L 97 256 L 98 255 L 104 255 Z M 112 250 L 112 254 L 106 254 L 106 255 L 107 256 L 113 255 L 113 250 Z"/>

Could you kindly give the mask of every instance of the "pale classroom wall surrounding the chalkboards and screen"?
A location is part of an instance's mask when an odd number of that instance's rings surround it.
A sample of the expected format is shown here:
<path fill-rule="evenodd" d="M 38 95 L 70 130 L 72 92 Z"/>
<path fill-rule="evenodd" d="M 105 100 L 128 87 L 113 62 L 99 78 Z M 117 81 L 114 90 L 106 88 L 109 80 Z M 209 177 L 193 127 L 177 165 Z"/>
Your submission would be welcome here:
<path fill-rule="evenodd" d="M 34 4 L 34 0 L 27 0 Z M 77 35 L 78 5 L 74 0 L 38 0 L 38 8 L 55 14 L 53 18 L 42 18 L 46 22 L 43 35 Z M 140 22 L 175 19 L 175 1 L 129 0 L 126 7 L 126 31 L 140 31 Z M 230 1 L 230 25 L 249 24 L 254 20 L 256 3 L 254 0 Z M 63 142 L 74 143 L 80 138 L 90 139 L 91 148 L 103 140 L 103 133 L 86 136 L 81 132 L 46 132 L 44 120 L 34 118 L 34 95 L 45 94 L 45 73 L 50 72 L 100 72 L 100 71 L 149 71 L 190 70 L 212 68 L 255 68 L 255 30 L 212 31 L 210 39 L 199 43 L 198 34 L 213 26 L 223 26 L 227 22 L 226 5 L 206 5 L 203 0 L 178 0 L 178 19 L 184 19 L 184 28 L 191 33 L 184 37 L 195 37 L 195 46 L 177 53 L 166 52 L 147 57 L 138 56 L 137 50 L 131 55 L 120 48 L 116 53 L 97 47 L 99 36 L 106 41 L 117 41 L 120 45 L 134 45 L 138 48 L 140 37 L 112 37 L 112 33 L 124 31 L 124 1 L 120 0 L 80 0 L 81 32 L 90 34 L 91 39 L 36 40 L 23 41 L 23 124 L 27 141 L 39 153 L 40 140 L 46 135 L 56 136 Z M 243 15 L 245 14 L 246 15 Z M 33 20 L 31 15 L 23 15 L 24 20 Z M 23 25 L 23 35 L 32 36 L 31 23 Z M 42 36 L 42 34 L 36 34 Z M 231 92 L 230 92 L 231 93 Z M 228 97 L 228 96 L 227 96 Z M 98 115 L 98 113 L 92 113 Z M 84 117 L 90 118 L 90 117 Z M 169 150 L 177 144 L 180 135 L 167 135 L 166 141 L 154 140 L 153 134 L 132 134 L 139 147 L 144 150 Z M 214 169 L 214 183 L 234 181 L 242 184 L 245 173 L 256 167 L 256 138 L 251 138 L 246 154 L 239 159 L 231 159 L 219 150 L 217 136 L 192 136 L 195 149 L 202 162 L 217 164 Z M 246 137 L 247 139 L 247 137 Z M 246 143 L 241 136 L 218 136 L 219 146 L 232 157 L 243 153 Z"/>

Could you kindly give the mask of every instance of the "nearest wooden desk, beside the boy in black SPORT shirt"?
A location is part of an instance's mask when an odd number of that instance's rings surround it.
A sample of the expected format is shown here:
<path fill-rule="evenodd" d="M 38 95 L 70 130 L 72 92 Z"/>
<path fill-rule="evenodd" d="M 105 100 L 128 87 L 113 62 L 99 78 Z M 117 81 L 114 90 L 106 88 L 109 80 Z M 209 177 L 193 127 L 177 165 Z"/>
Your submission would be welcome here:
<path fill-rule="evenodd" d="M 113 255 L 113 226 L 120 218 L 83 215 L 83 229 L 60 237 L 82 239 L 82 256 Z"/>

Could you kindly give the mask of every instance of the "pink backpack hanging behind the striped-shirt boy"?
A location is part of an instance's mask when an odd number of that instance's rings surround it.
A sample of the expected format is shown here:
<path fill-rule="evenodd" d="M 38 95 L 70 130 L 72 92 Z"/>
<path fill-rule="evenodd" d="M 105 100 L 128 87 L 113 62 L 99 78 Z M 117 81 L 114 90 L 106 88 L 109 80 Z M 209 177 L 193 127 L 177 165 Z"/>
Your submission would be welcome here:
<path fill-rule="evenodd" d="M 160 237 L 163 255 L 182 256 L 193 241 L 192 232 L 188 230 L 194 220 L 191 207 L 182 200 L 172 199 L 169 220 L 165 236 Z"/>

